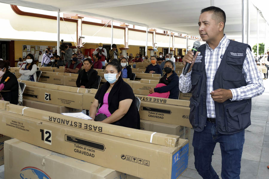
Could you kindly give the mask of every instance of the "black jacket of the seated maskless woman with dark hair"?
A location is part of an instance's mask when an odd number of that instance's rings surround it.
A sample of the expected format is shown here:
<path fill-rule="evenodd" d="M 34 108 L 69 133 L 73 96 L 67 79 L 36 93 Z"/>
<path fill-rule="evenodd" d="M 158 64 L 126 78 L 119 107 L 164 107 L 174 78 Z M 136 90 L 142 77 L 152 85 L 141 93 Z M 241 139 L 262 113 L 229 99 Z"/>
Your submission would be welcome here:
<path fill-rule="evenodd" d="M 85 69 L 81 70 L 79 72 L 79 75 L 77 76 L 77 81 L 76 81 L 77 87 L 81 86 L 81 84 L 80 84 L 81 83 L 81 78 L 82 78 L 84 72 L 85 72 Z M 97 89 L 98 88 L 98 83 L 97 83 L 98 82 L 97 81 L 97 74 L 98 73 L 97 73 L 97 71 L 91 68 L 86 73 L 88 75 L 88 83 L 85 84 L 85 88 L 89 88 L 89 89 L 95 88 L 95 89 Z"/>

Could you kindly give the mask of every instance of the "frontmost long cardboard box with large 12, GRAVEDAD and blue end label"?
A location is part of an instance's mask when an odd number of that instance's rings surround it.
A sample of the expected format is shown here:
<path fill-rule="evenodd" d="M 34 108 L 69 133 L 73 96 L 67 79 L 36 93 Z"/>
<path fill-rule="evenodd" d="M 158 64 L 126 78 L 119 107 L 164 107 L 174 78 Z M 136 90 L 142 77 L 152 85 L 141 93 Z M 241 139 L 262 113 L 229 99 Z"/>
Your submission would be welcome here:
<path fill-rule="evenodd" d="M 179 139 L 178 147 L 167 147 L 9 112 L 0 112 L 0 117 L 3 134 L 136 177 L 176 179 L 187 169 L 189 143 L 185 139 Z"/>

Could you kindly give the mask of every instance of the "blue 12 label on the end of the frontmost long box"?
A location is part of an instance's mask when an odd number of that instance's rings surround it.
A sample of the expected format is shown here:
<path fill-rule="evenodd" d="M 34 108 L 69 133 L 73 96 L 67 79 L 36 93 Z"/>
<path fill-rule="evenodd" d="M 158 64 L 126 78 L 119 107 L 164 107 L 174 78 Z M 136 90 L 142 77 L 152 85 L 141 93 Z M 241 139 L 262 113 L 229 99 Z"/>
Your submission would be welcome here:
<path fill-rule="evenodd" d="M 189 143 L 183 146 L 172 156 L 172 175 L 171 179 L 178 178 L 188 167 Z"/>

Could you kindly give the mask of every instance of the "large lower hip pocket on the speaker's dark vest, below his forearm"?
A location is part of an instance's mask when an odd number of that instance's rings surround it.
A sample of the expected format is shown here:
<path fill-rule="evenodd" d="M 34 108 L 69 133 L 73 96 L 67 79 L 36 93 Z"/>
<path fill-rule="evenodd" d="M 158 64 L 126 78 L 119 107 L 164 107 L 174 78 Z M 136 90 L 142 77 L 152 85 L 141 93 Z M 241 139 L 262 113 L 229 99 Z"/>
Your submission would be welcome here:
<path fill-rule="evenodd" d="M 226 129 L 236 132 L 250 125 L 250 107 L 248 101 L 236 101 L 225 106 Z"/>

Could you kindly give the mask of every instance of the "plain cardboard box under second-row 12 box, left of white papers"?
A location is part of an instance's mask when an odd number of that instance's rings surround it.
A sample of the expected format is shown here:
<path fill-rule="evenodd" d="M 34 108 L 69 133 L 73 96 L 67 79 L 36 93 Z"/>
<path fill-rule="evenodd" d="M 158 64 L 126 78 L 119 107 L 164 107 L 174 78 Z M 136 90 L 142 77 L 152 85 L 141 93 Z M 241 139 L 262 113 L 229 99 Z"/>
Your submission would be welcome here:
<path fill-rule="evenodd" d="M 38 101 L 33 101 L 29 99 L 23 99 L 23 105 L 26 107 L 31 107 L 35 109 L 41 109 L 49 112 L 55 112 L 58 114 L 68 113 L 68 112 L 81 112 L 81 109 L 74 109 L 65 106 L 59 106 L 55 104 L 42 103 Z"/>

